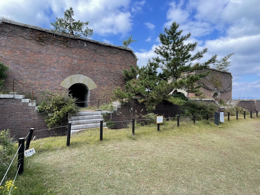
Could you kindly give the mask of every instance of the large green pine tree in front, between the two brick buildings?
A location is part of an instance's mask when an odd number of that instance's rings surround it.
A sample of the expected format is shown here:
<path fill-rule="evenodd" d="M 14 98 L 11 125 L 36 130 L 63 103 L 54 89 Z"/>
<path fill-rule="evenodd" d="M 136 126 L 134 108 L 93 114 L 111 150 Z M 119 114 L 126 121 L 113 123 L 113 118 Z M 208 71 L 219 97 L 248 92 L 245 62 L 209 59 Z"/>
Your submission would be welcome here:
<path fill-rule="evenodd" d="M 146 105 L 148 111 L 152 111 L 162 100 L 182 105 L 185 100 L 169 95 L 173 90 L 184 89 L 187 92 L 199 93 L 200 85 L 197 81 L 207 73 L 194 73 L 215 63 L 217 55 L 213 55 L 206 62 L 199 62 L 208 49 L 204 48 L 192 55 L 191 52 L 196 49 L 198 43 L 185 44 L 191 33 L 182 35 L 183 30 L 178 28 L 179 24 L 173 22 L 170 28 L 165 28 L 164 32 L 160 33 L 161 44 L 154 51 L 158 56 L 149 60 L 146 66 L 131 66 L 130 70 L 123 71 L 125 92 L 116 89 L 114 97 L 123 100 L 141 94 L 143 98 L 140 102 Z"/>

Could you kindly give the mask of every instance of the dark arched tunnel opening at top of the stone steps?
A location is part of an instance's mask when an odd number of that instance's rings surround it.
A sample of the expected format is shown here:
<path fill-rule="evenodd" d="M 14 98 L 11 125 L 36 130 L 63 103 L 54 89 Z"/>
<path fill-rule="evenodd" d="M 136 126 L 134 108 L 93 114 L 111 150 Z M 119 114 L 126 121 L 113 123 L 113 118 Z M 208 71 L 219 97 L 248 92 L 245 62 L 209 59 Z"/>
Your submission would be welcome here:
<path fill-rule="evenodd" d="M 76 98 L 76 104 L 80 107 L 87 107 L 88 87 L 83 83 L 75 83 L 69 87 L 69 94 Z"/>

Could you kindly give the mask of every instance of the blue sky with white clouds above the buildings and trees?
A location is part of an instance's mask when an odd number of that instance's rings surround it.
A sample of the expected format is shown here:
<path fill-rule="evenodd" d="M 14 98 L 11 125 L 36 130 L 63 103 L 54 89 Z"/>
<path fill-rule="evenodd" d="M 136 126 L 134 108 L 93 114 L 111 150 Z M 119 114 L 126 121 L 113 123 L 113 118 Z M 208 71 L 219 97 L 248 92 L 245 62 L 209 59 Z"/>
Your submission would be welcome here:
<path fill-rule="evenodd" d="M 233 97 L 260 99 L 260 3 L 258 0 L 0 0 L 0 16 L 21 23 L 51 28 L 56 17 L 73 7 L 74 18 L 89 21 L 94 40 L 121 45 L 133 35 L 131 49 L 139 66 L 155 56 L 158 35 L 174 21 L 189 42 L 198 42 L 197 50 L 209 49 L 202 61 L 218 54 L 230 57 Z"/>

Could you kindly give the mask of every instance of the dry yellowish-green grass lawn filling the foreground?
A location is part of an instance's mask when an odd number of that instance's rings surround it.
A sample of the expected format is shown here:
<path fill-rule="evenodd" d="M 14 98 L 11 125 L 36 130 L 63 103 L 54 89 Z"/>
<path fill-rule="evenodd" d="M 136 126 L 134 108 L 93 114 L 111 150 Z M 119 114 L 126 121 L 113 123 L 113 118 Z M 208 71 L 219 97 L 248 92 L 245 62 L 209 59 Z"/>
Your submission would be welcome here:
<path fill-rule="evenodd" d="M 260 194 L 260 118 L 225 120 L 32 144 L 12 194 Z"/>

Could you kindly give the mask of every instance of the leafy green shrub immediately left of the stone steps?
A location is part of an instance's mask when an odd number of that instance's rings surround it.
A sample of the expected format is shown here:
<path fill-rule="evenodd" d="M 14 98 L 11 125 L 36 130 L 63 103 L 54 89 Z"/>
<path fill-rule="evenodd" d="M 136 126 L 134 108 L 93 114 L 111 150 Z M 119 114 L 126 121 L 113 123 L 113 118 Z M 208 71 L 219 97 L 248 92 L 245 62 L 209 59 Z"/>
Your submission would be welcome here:
<path fill-rule="evenodd" d="M 75 98 L 65 92 L 61 95 L 44 93 L 44 101 L 40 102 L 38 111 L 46 116 L 45 121 L 49 128 L 63 126 L 66 123 L 68 112 L 79 112 L 75 101 Z"/>

